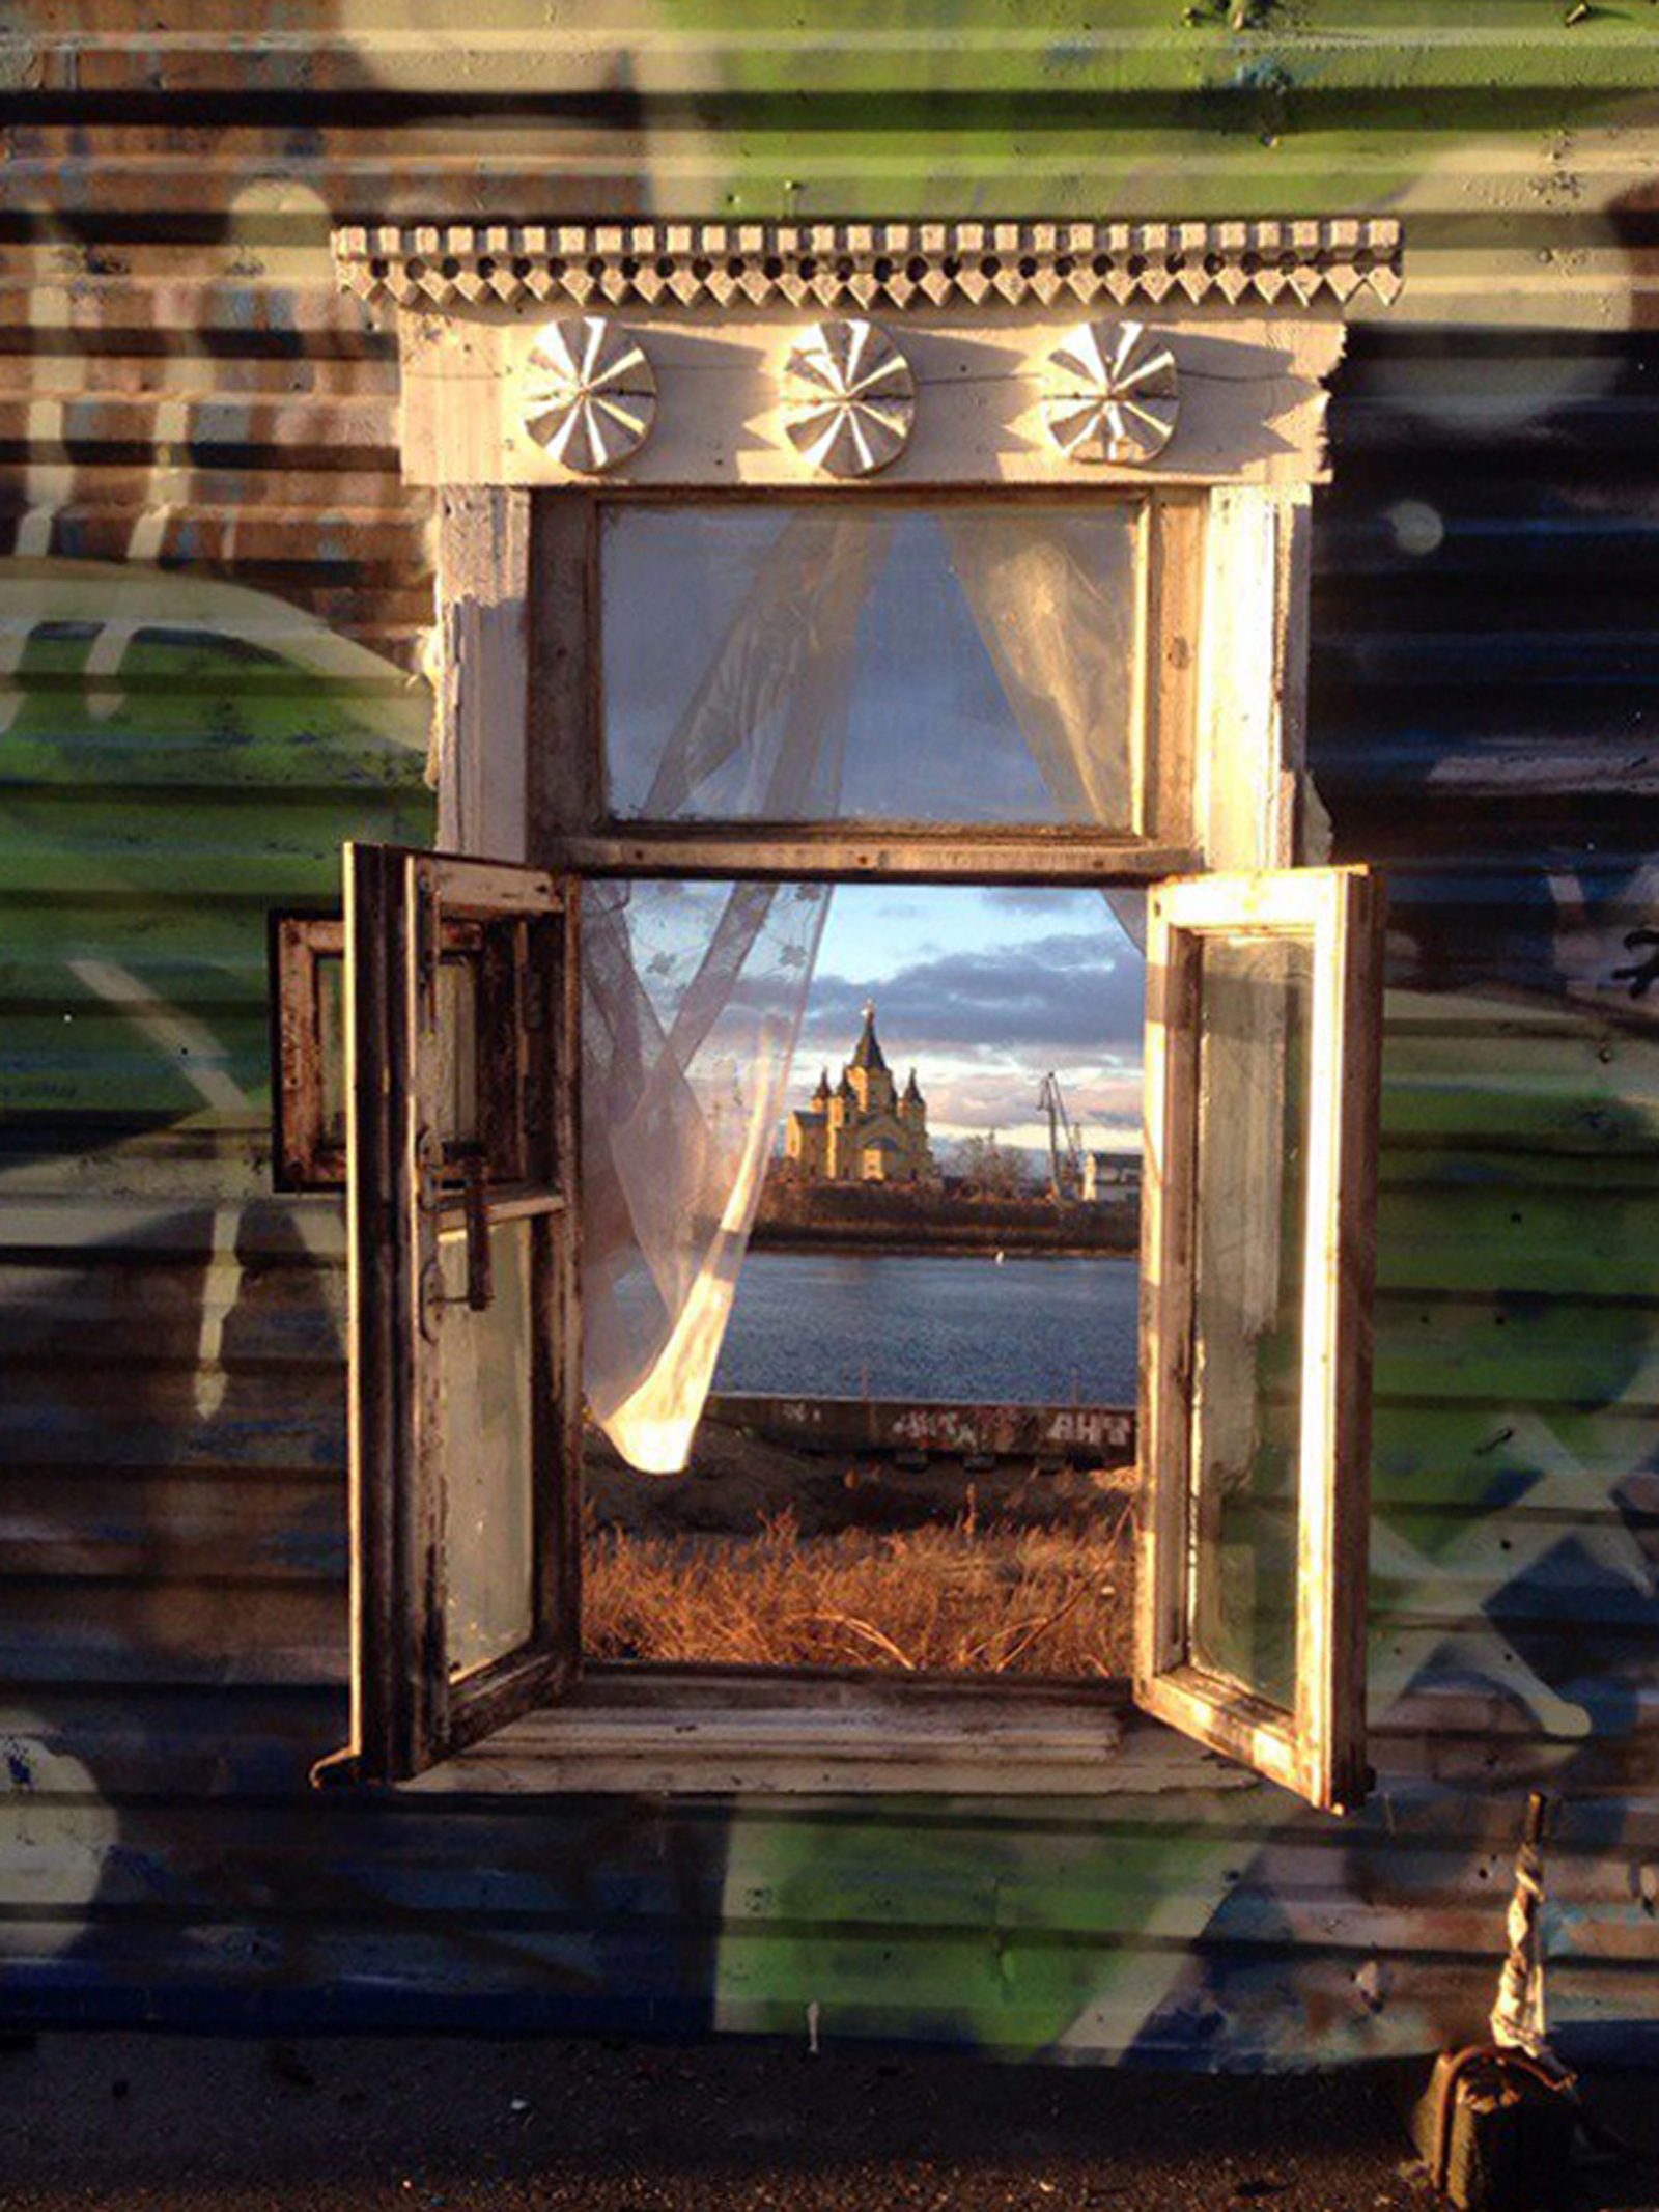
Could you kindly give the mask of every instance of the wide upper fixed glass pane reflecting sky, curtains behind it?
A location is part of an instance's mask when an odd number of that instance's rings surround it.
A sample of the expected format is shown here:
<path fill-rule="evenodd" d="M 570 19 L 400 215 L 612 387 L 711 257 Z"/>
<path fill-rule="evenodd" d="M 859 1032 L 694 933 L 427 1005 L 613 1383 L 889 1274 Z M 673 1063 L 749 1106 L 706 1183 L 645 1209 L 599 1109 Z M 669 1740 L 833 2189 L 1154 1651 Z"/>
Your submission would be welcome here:
<path fill-rule="evenodd" d="M 1135 823 L 1137 509 L 617 507 L 613 814 Z"/>

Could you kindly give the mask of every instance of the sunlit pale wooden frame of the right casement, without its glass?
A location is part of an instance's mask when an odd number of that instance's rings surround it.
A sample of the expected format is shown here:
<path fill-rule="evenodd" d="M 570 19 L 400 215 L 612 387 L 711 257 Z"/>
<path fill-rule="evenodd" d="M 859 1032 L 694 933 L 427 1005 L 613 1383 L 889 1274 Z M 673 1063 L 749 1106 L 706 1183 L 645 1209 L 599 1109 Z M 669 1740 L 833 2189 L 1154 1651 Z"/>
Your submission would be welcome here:
<path fill-rule="evenodd" d="M 1148 914 L 1141 1228 L 1141 1555 L 1135 1694 L 1312 1805 L 1367 1787 L 1365 1586 L 1383 885 L 1367 869 L 1201 876 Z M 1296 1493 L 1296 1710 L 1190 1661 L 1192 1230 L 1206 933 L 1314 951 Z"/>

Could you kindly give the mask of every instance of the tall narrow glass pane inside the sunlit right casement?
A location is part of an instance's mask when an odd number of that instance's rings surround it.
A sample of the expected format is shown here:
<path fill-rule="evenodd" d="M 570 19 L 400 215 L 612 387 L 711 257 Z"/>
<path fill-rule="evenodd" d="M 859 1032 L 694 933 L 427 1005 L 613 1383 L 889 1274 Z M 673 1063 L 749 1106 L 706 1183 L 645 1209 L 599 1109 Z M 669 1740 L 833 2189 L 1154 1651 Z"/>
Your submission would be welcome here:
<path fill-rule="evenodd" d="M 1312 947 L 1206 936 L 1192 1287 L 1192 1663 L 1296 1703 Z"/>

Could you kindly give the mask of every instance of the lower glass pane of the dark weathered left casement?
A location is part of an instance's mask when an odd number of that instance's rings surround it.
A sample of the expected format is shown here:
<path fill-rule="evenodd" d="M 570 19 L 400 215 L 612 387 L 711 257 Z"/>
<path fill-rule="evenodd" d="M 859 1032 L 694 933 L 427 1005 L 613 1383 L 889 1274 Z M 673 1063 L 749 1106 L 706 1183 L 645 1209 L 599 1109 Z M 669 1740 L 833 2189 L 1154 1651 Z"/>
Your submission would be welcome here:
<path fill-rule="evenodd" d="M 449 1672 L 500 1659 L 535 1626 L 531 1237 L 533 1221 L 491 1225 L 495 1296 L 482 1314 L 467 1298 L 467 1237 L 438 1239 L 445 1296 L 438 1387 L 447 1451 Z"/>

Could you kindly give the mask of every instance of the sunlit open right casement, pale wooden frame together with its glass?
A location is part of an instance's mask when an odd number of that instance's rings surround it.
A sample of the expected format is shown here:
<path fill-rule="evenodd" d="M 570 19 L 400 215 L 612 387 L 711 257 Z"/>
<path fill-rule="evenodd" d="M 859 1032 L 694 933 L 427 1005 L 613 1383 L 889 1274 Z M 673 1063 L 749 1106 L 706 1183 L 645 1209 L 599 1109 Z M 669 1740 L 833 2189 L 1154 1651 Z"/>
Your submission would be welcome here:
<path fill-rule="evenodd" d="M 1146 945 L 1135 1690 L 1358 1803 L 1383 889 L 1157 885 Z"/>

